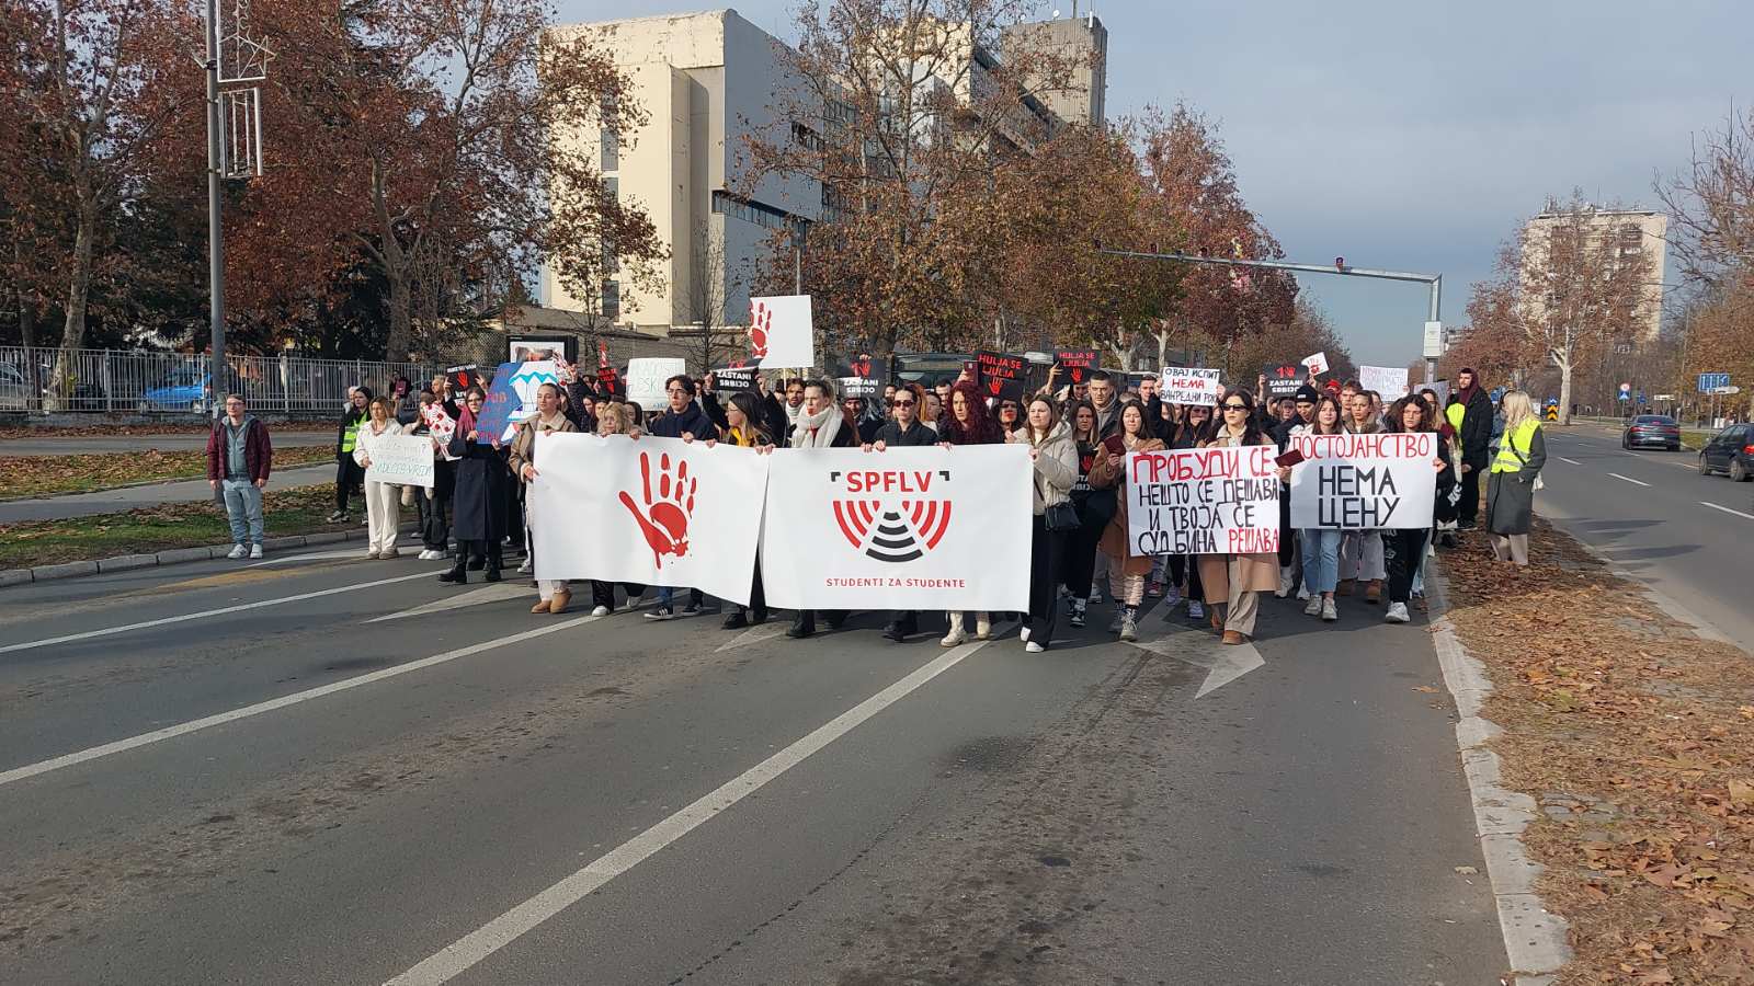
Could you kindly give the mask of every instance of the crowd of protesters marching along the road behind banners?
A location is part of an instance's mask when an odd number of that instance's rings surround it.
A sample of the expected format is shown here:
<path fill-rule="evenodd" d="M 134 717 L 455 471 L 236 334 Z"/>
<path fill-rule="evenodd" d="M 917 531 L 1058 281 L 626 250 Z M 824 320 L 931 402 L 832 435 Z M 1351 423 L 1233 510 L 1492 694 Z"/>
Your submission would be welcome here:
<path fill-rule="evenodd" d="M 1056 370 L 1058 374 L 1058 370 Z M 1384 405 L 1380 395 L 1356 382 L 1321 386 L 1314 377 L 1296 393 L 1265 397 L 1266 381 L 1254 388 L 1228 386 L 1216 407 L 1173 405 L 1161 400 L 1149 374 L 1137 386 L 1107 372 L 1093 372 L 1070 386 L 1047 386 L 1024 395 L 1007 389 L 982 395 L 968 374 L 940 381 L 893 382 L 872 407 L 865 397 L 837 395 L 826 379 L 789 377 L 774 389 L 759 375 L 752 391 L 723 393 L 712 374 L 696 381 L 675 375 L 665 384 L 667 407 L 598 398 L 595 386 L 561 365 L 561 381 L 542 384 L 537 412 L 507 435 L 475 428 L 486 393 L 479 386 L 458 395 L 444 375 L 417 393 L 405 379 L 391 393 L 374 397 L 356 388 L 337 426 L 335 512 L 347 518 L 349 497 L 365 500 L 368 558 L 395 558 L 400 507 L 417 505 L 421 558 L 454 560 L 438 575 L 467 584 L 468 572 L 489 582 L 505 577 L 505 556 L 523 556 L 519 574 L 533 570 L 528 532 L 544 518 L 528 516 L 526 486 L 540 475 L 537 435 L 586 432 L 644 435 L 684 442 L 726 442 L 768 454 L 774 449 L 863 447 L 881 454 L 889 447 L 1019 444 L 1031 458 L 1033 518 L 1028 611 L 1016 619 L 1030 651 L 1056 639 L 1061 623 L 1086 625 L 1093 605 L 1114 604 L 1109 632 L 1135 640 L 1151 600 L 1165 619 L 1210 623 L 1226 644 L 1244 644 L 1256 633 L 1261 597 L 1296 598 L 1310 618 L 1342 619 L 1342 600 L 1359 598 L 1382 607 L 1387 623 L 1408 623 L 1410 609 L 1426 609 L 1424 560 L 1438 547 L 1454 547 L 1458 532 L 1479 526 L 1482 474 L 1486 528 L 1496 558 L 1528 565 L 1528 530 L 1533 491 L 1545 463 L 1538 414 L 1522 391 L 1505 391 L 1494 407 L 1473 370 L 1458 374 L 1456 389 L 1440 404 L 1435 389 L 1421 389 Z M 440 428 L 440 425 L 444 425 Z M 1275 553 L 1244 554 L 1140 554 L 1128 537 L 1128 453 L 1230 446 L 1287 446 L 1305 435 L 1431 432 L 1437 454 L 1435 511 L 1428 526 L 1394 530 L 1291 528 L 1289 484 L 1280 495 L 1280 539 Z M 440 440 L 438 435 L 447 435 Z M 433 435 L 435 481 L 430 488 L 365 482 L 374 449 L 395 435 Z M 1501 439 L 1494 439 L 1501 435 Z M 1493 444 L 1496 442 L 1496 449 Z M 952 453 L 954 454 L 954 453 Z M 232 518 L 232 558 L 261 556 L 261 488 L 272 451 L 267 430 L 249 418 L 239 397 L 226 400 L 226 418 L 209 440 L 209 479 L 223 495 Z M 1279 468 L 1282 481 L 1289 465 Z M 724 628 L 765 623 L 759 561 L 754 563 L 749 605 L 724 612 Z M 538 581 L 531 612 L 567 612 L 567 581 Z M 595 616 L 621 605 L 640 605 L 645 586 L 591 582 Z M 686 593 L 686 595 L 684 595 Z M 1182 604 L 1186 602 L 1186 609 Z M 698 589 L 658 588 L 645 605 L 647 619 L 696 614 L 709 600 Z M 1063 611 L 1063 612 L 1061 612 Z M 830 630 L 844 611 L 796 612 L 788 635 Z M 889 612 L 884 637 L 903 642 L 921 635 L 919 612 Z M 954 647 L 970 637 L 993 635 L 991 612 L 947 612 L 940 644 Z"/>

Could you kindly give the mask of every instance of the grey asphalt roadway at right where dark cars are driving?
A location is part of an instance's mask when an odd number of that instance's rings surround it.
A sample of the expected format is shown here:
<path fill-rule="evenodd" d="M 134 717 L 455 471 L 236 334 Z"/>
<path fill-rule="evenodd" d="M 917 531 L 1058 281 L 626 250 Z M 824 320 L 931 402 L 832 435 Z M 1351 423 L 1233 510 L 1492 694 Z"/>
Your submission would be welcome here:
<path fill-rule="evenodd" d="M 1754 484 L 1703 477 L 1698 461 L 1551 428 L 1535 511 L 1754 651 Z"/>

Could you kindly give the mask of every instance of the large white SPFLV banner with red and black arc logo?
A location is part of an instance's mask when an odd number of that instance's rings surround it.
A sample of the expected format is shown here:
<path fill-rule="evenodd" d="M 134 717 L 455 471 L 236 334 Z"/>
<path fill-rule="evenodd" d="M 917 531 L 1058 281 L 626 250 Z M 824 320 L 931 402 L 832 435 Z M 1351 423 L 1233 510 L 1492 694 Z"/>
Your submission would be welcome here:
<path fill-rule="evenodd" d="M 1023 446 L 766 456 L 761 582 L 781 609 L 1030 609 Z"/>

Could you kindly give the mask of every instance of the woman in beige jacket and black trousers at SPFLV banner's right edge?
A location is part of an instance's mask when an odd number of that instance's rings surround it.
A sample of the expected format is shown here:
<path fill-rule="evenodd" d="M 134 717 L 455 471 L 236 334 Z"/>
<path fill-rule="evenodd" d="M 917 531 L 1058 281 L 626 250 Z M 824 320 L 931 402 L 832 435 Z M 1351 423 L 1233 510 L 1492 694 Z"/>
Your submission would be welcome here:
<path fill-rule="evenodd" d="M 972 393 L 972 384 L 956 384 L 956 389 L 965 386 L 972 400 L 979 400 Z M 956 391 L 951 397 L 954 398 Z M 1072 440 L 1072 428 L 1059 419 L 1059 409 L 1045 395 L 1030 398 L 1030 423 L 1012 437 L 1012 442 L 1030 446 L 1030 460 L 1035 463 L 1030 612 L 1023 619 L 1019 637 L 1026 651 L 1042 653 L 1054 642 L 1054 618 L 1059 612 L 1054 589 L 1059 586 L 1059 568 L 1065 565 L 1066 537 L 1079 526 L 1077 511 L 1072 509 L 1072 484 L 1079 479 L 1079 449 Z M 961 630 L 961 614 L 951 616 L 954 633 Z"/>

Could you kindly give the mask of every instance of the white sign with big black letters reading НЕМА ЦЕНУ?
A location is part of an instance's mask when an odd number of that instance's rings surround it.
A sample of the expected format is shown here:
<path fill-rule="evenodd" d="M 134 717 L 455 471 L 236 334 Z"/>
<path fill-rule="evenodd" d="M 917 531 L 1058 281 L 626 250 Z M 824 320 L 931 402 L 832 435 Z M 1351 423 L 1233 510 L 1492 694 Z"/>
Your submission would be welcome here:
<path fill-rule="evenodd" d="M 1291 526 L 1400 530 L 1431 526 L 1437 498 L 1437 435 L 1294 435 Z"/>

